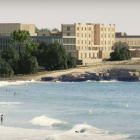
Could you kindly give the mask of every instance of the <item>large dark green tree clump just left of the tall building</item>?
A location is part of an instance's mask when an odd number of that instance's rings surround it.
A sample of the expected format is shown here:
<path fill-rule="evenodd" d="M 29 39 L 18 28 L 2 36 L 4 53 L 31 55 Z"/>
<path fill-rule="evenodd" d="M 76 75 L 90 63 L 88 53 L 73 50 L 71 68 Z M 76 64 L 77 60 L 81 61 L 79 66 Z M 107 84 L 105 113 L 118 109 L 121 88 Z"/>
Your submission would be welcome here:
<path fill-rule="evenodd" d="M 64 47 L 58 42 L 53 44 L 42 42 L 31 55 L 36 56 L 39 65 L 48 71 L 76 67 L 76 59 L 68 56 Z"/>

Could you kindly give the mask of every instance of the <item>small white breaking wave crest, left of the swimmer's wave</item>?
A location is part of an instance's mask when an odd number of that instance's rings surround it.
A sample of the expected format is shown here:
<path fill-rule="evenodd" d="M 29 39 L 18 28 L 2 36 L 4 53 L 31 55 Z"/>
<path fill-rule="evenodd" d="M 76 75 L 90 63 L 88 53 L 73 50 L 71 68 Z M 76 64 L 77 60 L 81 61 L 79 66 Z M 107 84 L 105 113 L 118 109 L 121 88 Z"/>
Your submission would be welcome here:
<path fill-rule="evenodd" d="M 62 122 L 58 119 L 51 119 L 46 117 L 45 115 L 40 117 L 35 117 L 30 121 L 33 125 L 40 125 L 40 126 L 57 126 L 60 124 L 66 124 L 66 122 Z"/>

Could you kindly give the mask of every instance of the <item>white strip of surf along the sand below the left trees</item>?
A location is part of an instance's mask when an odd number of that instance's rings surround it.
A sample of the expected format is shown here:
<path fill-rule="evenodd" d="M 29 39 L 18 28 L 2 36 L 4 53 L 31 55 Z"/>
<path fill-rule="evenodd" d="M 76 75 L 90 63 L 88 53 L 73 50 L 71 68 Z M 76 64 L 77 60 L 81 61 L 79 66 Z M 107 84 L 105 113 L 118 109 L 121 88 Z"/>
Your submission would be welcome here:
<path fill-rule="evenodd" d="M 34 79 L 31 81 L 0 81 L 0 86 L 8 86 L 8 85 L 22 85 L 25 83 L 36 82 Z"/>

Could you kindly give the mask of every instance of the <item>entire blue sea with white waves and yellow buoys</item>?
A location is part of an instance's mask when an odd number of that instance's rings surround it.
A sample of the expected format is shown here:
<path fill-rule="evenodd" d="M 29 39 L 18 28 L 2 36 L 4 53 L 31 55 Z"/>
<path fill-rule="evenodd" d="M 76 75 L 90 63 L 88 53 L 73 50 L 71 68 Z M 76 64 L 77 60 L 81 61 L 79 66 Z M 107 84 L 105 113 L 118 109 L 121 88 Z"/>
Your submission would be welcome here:
<path fill-rule="evenodd" d="M 140 83 L 1 81 L 0 115 L 0 140 L 140 140 Z"/>

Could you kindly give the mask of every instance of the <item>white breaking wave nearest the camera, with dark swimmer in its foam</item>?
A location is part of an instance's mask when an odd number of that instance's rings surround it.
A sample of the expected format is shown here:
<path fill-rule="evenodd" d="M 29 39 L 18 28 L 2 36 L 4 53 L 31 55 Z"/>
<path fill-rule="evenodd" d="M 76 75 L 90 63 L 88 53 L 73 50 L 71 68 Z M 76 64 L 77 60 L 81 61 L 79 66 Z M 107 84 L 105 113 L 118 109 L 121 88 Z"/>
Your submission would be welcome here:
<path fill-rule="evenodd" d="M 103 131 L 87 124 L 78 124 L 64 133 L 50 135 L 46 140 L 124 140 L 128 137 L 129 135 L 124 134 L 110 134 L 109 131 Z"/>

